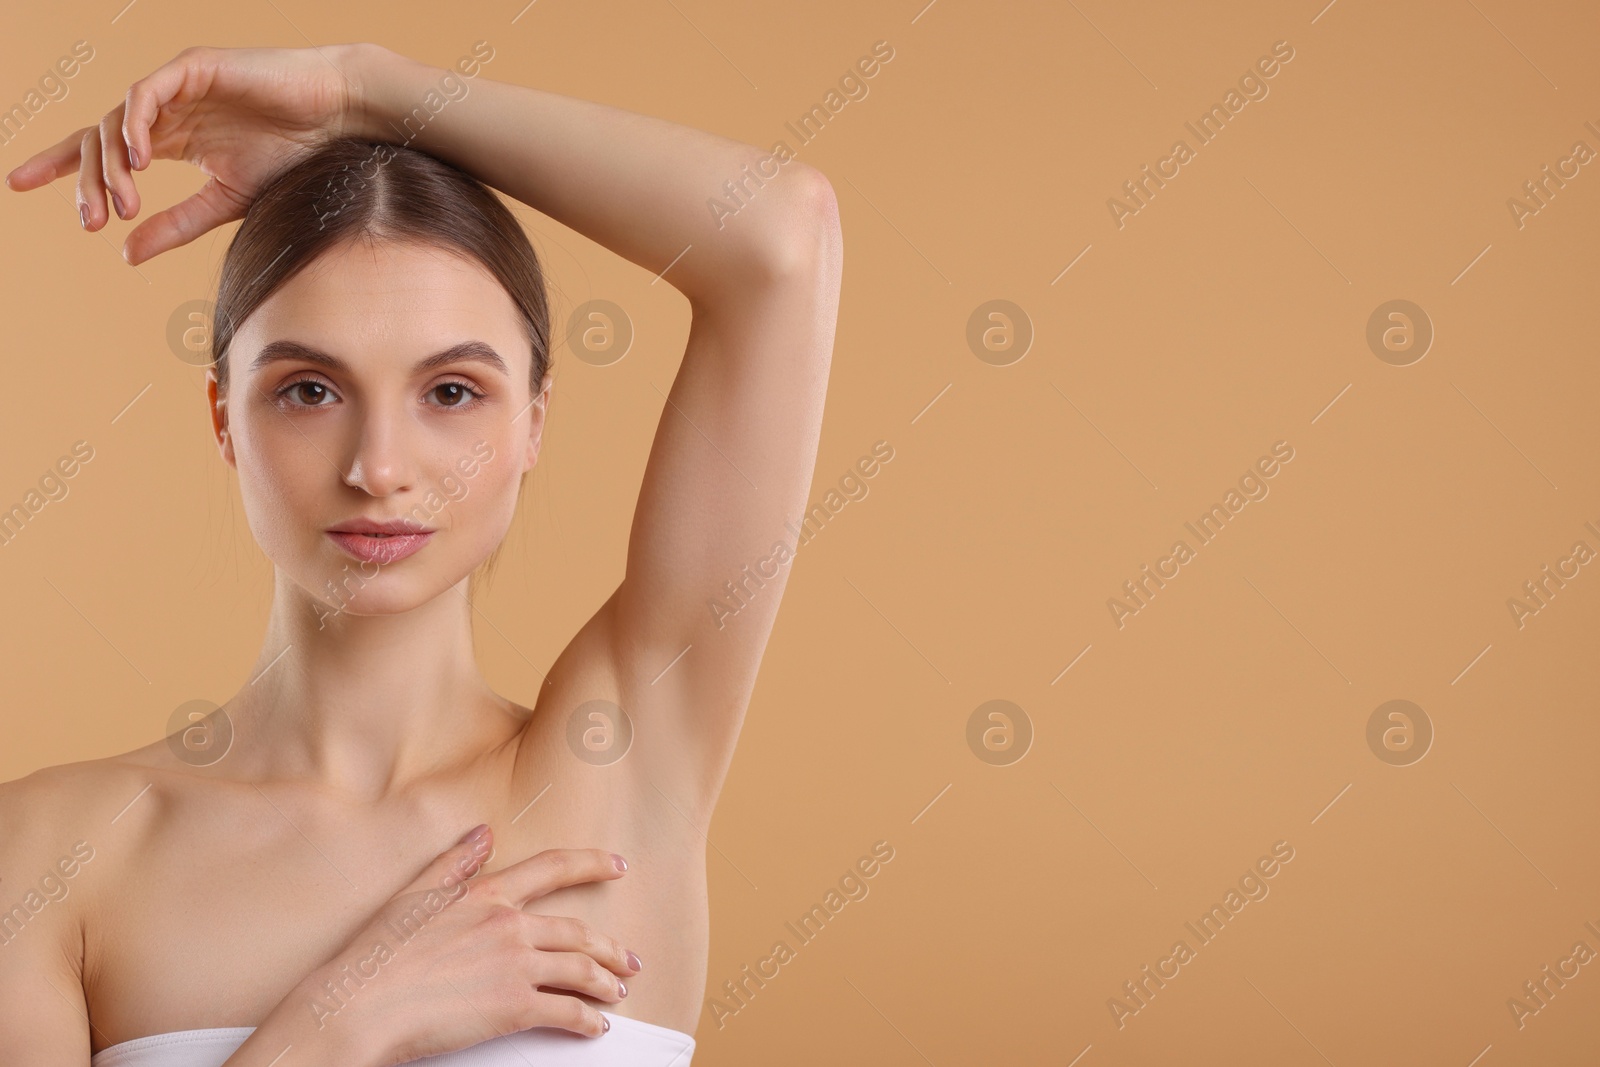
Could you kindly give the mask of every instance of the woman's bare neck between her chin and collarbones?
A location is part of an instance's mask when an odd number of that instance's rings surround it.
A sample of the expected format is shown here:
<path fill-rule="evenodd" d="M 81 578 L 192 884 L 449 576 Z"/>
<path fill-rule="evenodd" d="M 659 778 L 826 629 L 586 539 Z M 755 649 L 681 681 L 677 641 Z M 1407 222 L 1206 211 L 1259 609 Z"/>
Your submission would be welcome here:
<path fill-rule="evenodd" d="M 379 798 L 517 736 L 472 648 L 467 582 L 398 614 L 330 614 L 282 573 L 261 656 L 227 704 L 237 773 Z"/>

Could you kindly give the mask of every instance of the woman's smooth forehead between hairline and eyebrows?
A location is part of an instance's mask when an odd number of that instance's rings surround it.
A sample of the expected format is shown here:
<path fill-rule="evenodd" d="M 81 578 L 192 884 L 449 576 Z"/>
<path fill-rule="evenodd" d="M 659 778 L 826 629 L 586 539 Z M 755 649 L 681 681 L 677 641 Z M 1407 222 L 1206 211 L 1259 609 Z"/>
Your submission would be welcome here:
<path fill-rule="evenodd" d="M 430 355 L 464 338 L 531 358 L 522 314 L 483 264 L 445 248 L 344 242 L 272 293 L 240 325 L 240 349 L 291 338 L 347 357 Z"/>

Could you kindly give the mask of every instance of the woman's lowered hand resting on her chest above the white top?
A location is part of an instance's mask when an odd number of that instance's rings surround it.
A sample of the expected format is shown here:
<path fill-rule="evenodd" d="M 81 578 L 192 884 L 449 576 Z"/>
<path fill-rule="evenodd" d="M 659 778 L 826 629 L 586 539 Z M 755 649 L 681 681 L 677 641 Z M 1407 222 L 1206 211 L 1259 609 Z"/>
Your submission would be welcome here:
<path fill-rule="evenodd" d="M 474 878 L 490 838 L 480 827 L 442 853 L 274 1014 L 310 1011 L 318 1033 L 352 1027 L 354 1040 L 346 1030 L 334 1043 L 362 1049 L 363 1064 L 438 1056 L 530 1027 L 608 1030 L 597 1008 L 570 993 L 619 1001 L 621 977 L 638 974 L 638 957 L 581 920 L 525 905 L 621 878 L 627 864 L 598 849 L 547 849 Z"/>

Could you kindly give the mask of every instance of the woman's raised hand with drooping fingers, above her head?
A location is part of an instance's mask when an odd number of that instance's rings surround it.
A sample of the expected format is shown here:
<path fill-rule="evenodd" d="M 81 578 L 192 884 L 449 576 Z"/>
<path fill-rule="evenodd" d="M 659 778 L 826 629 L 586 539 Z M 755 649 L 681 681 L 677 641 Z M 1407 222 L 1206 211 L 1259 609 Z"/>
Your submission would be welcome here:
<path fill-rule="evenodd" d="M 78 173 L 88 230 L 139 214 L 133 173 L 150 160 L 187 160 L 210 181 L 141 222 L 123 246 L 144 262 L 240 219 L 262 182 L 298 155 L 360 125 L 358 69 L 371 45 L 326 48 L 186 48 L 128 90 L 128 98 L 6 176 L 16 190 Z M 107 194 L 110 208 L 107 208 Z"/>

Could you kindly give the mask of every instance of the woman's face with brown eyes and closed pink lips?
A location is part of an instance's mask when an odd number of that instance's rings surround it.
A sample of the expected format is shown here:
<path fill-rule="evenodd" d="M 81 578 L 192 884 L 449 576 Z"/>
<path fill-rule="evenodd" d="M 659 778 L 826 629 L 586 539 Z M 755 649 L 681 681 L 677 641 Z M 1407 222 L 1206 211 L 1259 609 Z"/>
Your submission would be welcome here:
<path fill-rule="evenodd" d="M 394 614 L 504 537 L 549 394 L 510 296 L 414 243 L 320 256 L 234 336 L 213 424 L 251 533 L 328 614 Z M 536 403 L 533 403 L 536 400 Z"/>

